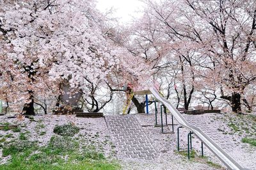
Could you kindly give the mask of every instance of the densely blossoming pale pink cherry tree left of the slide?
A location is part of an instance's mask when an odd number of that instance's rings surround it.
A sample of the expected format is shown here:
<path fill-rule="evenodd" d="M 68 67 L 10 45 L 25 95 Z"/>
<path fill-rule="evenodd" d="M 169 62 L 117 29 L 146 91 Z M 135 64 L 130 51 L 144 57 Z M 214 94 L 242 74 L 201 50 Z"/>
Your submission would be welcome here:
<path fill-rule="evenodd" d="M 35 114 L 35 99 L 45 96 L 59 105 L 65 83 L 88 98 L 88 81 L 118 86 L 111 77 L 117 75 L 143 82 L 144 67 L 111 38 L 109 19 L 93 0 L 1 1 L 0 12 L 1 98 L 17 111 L 24 104 L 24 114 Z"/>

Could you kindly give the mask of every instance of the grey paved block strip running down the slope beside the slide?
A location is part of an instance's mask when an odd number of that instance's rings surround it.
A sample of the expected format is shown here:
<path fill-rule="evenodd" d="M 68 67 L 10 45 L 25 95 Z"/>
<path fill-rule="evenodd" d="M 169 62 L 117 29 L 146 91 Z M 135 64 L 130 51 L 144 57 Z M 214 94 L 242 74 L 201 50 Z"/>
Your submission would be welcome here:
<path fill-rule="evenodd" d="M 105 116 L 119 158 L 152 160 L 156 150 L 133 115 Z"/>

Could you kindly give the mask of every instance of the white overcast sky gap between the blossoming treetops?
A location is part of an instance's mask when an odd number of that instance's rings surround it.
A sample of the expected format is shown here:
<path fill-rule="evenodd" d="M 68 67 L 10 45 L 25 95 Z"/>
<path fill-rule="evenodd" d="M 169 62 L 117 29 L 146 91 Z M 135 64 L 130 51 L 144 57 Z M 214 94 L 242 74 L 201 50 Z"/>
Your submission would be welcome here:
<path fill-rule="evenodd" d="M 139 10 L 143 8 L 143 3 L 139 0 L 97 0 L 97 8 L 106 12 L 111 7 L 115 9 L 115 13 L 113 13 L 114 17 L 118 17 L 120 22 L 129 22 L 133 17 L 140 16 L 137 13 Z"/>

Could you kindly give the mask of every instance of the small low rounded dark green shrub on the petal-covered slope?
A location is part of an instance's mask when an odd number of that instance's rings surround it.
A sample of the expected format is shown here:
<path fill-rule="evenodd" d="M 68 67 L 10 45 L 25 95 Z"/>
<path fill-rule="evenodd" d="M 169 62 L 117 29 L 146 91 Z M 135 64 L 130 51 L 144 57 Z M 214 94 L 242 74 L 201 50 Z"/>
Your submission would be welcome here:
<path fill-rule="evenodd" d="M 55 134 L 62 135 L 62 136 L 74 136 L 79 132 L 79 128 L 72 124 L 57 125 L 56 127 L 54 127 L 53 132 Z"/>

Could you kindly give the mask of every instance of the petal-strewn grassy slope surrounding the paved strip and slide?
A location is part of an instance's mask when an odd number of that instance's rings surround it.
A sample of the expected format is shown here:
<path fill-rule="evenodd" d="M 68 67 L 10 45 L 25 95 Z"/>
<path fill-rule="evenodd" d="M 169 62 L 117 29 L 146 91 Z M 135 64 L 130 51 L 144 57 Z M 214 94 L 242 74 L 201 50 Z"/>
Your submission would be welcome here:
<path fill-rule="evenodd" d="M 74 115 L 44 115 L 17 119 L 1 116 L 0 169 L 227 169 L 193 136 L 191 159 L 187 158 L 188 130 L 174 134 L 155 127 L 154 114 L 134 115 L 157 156 L 153 160 L 120 157 L 104 118 Z M 227 153 L 248 169 L 256 169 L 256 114 L 211 113 L 186 115 L 186 120 L 209 135 Z M 158 117 L 158 120 L 159 117 Z M 165 122 L 165 120 L 164 120 Z M 168 115 L 168 124 L 171 116 Z M 159 123 L 159 122 L 158 122 Z M 18 125 L 10 129 L 8 125 Z M 164 127 L 172 132 L 172 126 Z"/>

